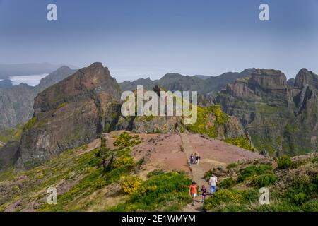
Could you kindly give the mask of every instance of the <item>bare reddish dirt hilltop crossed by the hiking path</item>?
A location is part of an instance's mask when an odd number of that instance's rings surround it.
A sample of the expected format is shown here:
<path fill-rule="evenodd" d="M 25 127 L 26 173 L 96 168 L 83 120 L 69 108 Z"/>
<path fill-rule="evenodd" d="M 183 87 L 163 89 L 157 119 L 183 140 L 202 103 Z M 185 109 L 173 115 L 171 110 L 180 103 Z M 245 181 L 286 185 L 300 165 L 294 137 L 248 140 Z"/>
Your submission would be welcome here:
<path fill-rule="evenodd" d="M 114 135 L 119 135 L 122 131 L 107 134 L 109 148 L 114 148 Z M 133 135 L 135 133 L 132 133 Z M 226 165 L 242 161 L 263 158 L 258 153 L 252 153 L 235 145 L 230 145 L 223 141 L 201 137 L 199 134 L 189 133 L 138 133 L 142 143 L 136 145 L 131 151 L 131 156 L 138 161 L 144 159 L 143 170 L 139 174 L 142 179 L 147 179 L 146 175 L 153 169 L 163 169 L 167 172 L 171 170 L 181 170 L 189 174 L 196 181 L 198 186 L 209 187 L 204 180 L 204 173 L 213 167 L 226 167 Z M 187 160 L 191 153 L 198 152 L 201 156 L 199 165 L 189 167 Z M 190 184 L 189 184 L 190 185 Z M 191 203 L 184 208 L 185 212 L 203 211 L 201 196 L 197 197 L 195 206 Z"/>

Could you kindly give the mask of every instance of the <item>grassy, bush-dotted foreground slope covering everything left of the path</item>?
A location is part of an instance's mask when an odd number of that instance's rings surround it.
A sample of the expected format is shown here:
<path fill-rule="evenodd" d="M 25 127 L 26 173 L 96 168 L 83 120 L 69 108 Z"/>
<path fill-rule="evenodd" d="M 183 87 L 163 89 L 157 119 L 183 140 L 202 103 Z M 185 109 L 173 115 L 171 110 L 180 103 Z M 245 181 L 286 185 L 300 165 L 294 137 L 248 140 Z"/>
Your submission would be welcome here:
<path fill-rule="evenodd" d="M 182 210 L 189 202 L 190 183 L 183 173 L 161 173 L 145 182 L 124 183 L 141 170 L 143 162 L 134 162 L 129 155 L 139 142 L 138 136 L 122 133 L 114 150 L 106 148 L 102 139 L 100 148 L 84 145 L 68 150 L 26 172 L 8 169 L 0 174 L 0 211 Z M 112 155 L 115 160 L 110 160 Z M 47 204 L 49 187 L 57 188 L 57 205 Z"/>

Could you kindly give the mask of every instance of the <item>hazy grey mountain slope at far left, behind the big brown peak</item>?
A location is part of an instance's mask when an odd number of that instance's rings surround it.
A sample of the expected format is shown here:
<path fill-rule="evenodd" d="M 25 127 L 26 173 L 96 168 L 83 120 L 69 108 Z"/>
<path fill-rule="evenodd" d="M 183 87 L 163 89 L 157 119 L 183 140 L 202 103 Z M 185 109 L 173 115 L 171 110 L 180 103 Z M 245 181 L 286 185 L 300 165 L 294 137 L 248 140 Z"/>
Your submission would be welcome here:
<path fill-rule="evenodd" d="M 42 78 L 40 84 L 35 87 L 20 84 L 13 85 L 11 88 L 0 88 L 0 131 L 1 128 L 13 128 L 28 121 L 33 115 L 33 103 L 37 93 L 72 73 L 75 71 L 63 66 L 46 78 Z"/>

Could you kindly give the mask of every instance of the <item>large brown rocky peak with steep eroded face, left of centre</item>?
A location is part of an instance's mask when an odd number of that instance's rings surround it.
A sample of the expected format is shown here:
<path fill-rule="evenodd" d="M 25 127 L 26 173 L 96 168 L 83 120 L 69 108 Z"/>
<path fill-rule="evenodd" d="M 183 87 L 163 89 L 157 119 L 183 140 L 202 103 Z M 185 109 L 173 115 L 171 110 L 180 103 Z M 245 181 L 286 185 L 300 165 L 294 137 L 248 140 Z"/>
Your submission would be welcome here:
<path fill-rule="evenodd" d="M 119 85 L 100 63 L 80 69 L 35 98 L 34 115 L 25 125 L 18 165 L 34 167 L 61 151 L 97 138 L 110 122 Z"/>

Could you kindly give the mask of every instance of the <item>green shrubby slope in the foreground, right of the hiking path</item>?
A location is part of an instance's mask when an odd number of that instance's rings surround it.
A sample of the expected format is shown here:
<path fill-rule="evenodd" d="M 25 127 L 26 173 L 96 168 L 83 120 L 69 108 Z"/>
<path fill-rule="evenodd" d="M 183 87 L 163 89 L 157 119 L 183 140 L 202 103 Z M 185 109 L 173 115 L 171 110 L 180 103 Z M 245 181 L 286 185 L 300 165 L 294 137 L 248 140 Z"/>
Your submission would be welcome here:
<path fill-rule="evenodd" d="M 317 157 L 290 160 L 288 169 L 274 170 L 264 162 L 240 162 L 231 165 L 220 177 L 215 194 L 204 203 L 205 211 L 318 211 Z M 285 168 L 285 158 L 283 158 Z M 294 164 L 294 162 L 297 162 Z M 299 163 L 301 162 L 301 163 Z M 210 170 L 211 171 L 211 170 Z M 237 172 L 230 177 L 231 172 Z M 269 189 L 269 205 L 259 203 L 259 188 Z"/>

